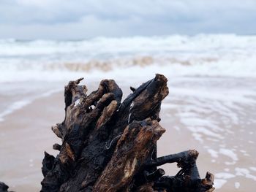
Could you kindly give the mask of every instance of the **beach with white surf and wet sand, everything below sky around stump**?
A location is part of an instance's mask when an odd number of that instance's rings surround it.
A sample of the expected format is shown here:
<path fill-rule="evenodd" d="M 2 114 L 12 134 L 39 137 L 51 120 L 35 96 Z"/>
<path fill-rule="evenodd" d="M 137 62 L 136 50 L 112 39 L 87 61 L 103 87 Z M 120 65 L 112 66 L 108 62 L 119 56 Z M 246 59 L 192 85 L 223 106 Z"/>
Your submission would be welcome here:
<path fill-rule="evenodd" d="M 91 92 L 100 80 L 114 79 L 124 99 L 129 86 L 136 88 L 161 73 L 170 93 L 162 102 L 160 125 L 166 132 L 157 144 L 158 156 L 195 149 L 200 177 L 212 172 L 217 191 L 254 191 L 255 39 L 94 39 L 59 42 L 62 50 L 56 42 L 0 42 L 0 47 L 17 49 L 0 50 L 0 180 L 12 191 L 40 190 L 44 151 L 56 155 L 52 145 L 61 144 L 51 126 L 64 120 L 64 85 L 69 80 L 85 77 L 81 83 Z M 49 44 L 49 53 L 37 47 Z M 95 55 L 86 53 L 89 45 Z M 178 172 L 176 164 L 164 167 L 167 175 Z"/>

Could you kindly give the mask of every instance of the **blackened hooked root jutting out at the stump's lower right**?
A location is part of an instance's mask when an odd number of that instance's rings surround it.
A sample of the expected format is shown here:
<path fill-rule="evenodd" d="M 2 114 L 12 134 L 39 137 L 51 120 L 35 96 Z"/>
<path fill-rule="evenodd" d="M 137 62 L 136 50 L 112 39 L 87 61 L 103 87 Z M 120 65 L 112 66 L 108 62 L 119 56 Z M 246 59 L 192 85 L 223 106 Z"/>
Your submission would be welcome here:
<path fill-rule="evenodd" d="M 213 181 L 214 176 L 210 172 L 207 172 L 206 178 L 201 180 L 199 172 L 197 170 L 196 159 L 198 156 L 196 150 L 187 150 L 181 153 L 167 155 L 161 158 L 157 158 L 151 164 L 146 166 L 160 166 L 166 163 L 178 163 L 178 167 L 181 170 L 174 177 L 160 177 L 154 183 L 155 189 L 164 188 L 167 191 L 214 191 Z"/>

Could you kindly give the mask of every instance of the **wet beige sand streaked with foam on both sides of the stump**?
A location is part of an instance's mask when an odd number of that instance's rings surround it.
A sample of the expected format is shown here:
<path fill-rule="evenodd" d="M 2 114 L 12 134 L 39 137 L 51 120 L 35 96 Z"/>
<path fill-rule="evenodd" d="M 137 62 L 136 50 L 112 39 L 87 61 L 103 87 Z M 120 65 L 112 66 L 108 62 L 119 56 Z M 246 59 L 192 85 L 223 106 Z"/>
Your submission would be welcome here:
<path fill-rule="evenodd" d="M 228 106 L 222 99 L 193 96 L 189 89 L 181 93 L 182 90 L 175 88 L 180 85 L 170 82 L 170 95 L 162 104 L 161 125 L 167 131 L 158 142 L 158 155 L 196 149 L 200 153 L 197 160 L 200 176 L 204 177 L 207 171 L 216 174 L 217 191 L 255 191 L 255 121 L 246 124 L 246 120 L 255 118 L 255 104 L 238 102 Z M 184 82 L 182 86 L 185 87 Z M 91 87 L 95 88 L 96 84 Z M 128 85 L 121 88 L 124 95 L 129 93 Z M 231 112 L 236 115 L 230 115 Z M 223 117 L 227 119 L 222 120 Z M 52 145 L 61 142 L 50 127 L 62 120 L 64 93 L 60 91 L 37 97 L 0 122 L 0 180 L 10 190 L 39 191 L 43 152 L 56 155 Z M 166 174 L 178 172 L 176 164 L 164 167 Z"/>

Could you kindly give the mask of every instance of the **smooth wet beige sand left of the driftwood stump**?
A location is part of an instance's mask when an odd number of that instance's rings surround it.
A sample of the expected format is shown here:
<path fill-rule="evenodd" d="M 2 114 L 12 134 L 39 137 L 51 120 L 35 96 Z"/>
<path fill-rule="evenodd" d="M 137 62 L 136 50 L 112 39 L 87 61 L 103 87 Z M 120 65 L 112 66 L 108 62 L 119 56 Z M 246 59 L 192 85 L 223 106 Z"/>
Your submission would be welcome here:
<path fill-rule="evenodd" d="M 1 122 L 1 181 L 13 191 L 39 191 L 44 151 L 61 140 L 50 127 L 64 119 L 61 93 L 37 99 Z"/>

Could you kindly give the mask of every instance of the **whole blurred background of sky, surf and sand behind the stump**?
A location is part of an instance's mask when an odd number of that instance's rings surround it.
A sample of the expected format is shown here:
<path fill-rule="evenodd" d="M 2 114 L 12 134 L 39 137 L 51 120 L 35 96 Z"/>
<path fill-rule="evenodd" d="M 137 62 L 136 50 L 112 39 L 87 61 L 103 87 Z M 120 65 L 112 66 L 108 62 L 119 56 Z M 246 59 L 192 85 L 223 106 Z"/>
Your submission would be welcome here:
<path fill-rule="evenodd" d="M 0 180 L 39 191 L 69 80 L 114 79 L 125 97 L 161 73 L 159 155 L 195 148 L 217 191 L 255 191 L 255 20 L 255 0 L 1 0 Z"/>

